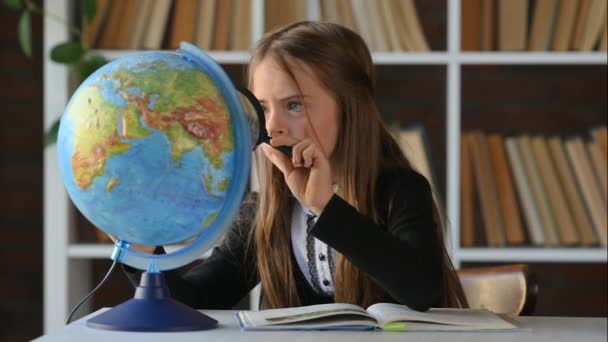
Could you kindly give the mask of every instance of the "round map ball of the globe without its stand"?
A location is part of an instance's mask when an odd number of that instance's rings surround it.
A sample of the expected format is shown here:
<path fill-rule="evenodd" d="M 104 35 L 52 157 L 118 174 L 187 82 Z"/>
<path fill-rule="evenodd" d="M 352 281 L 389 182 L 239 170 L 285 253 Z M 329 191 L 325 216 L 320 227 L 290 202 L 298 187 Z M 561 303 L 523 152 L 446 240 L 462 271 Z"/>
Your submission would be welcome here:
<path fill-rule="evenodd" d="M 198 236 L 235 200 L 226 198 L 239 166 L 229 109 L 217 80 L 178 53 L 108 63 L 80 85 L 61 119 L 59 166 L 70 198 L 123 241 Z"/>

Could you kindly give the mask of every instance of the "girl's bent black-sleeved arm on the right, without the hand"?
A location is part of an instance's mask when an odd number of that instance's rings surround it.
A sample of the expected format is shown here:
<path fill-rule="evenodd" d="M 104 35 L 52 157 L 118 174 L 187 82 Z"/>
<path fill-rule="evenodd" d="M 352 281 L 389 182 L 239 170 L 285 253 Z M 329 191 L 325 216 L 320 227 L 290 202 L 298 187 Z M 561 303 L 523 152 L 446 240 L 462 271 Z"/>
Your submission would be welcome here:
<path fill-rule="evenodd" d="M 342 253 L 400 304 L 427 310 L 439 302 L 443 287 L 431 188 L 411 170 L 393 174 L 384 188 L 378 208 L 388 212 L 385 224 L 374 223 L 334 195 L 311 234 Z"/>

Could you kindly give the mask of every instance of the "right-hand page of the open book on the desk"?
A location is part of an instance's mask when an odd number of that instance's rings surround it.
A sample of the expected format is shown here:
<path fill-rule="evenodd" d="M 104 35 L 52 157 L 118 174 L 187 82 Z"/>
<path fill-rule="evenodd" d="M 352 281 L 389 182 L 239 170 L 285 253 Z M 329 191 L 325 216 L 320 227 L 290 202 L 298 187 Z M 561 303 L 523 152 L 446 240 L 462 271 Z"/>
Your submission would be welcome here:
<path fill-rule="evenodd" d="M 418 323 L 432 323 L 440 330 L 442 325 L 452 328 L 470 330 L 484 329 L 512 329 L 515 326 L 506 322 L 498 315 L 485 309 L 449 309 L 431 308 L 426 312 L 419 312 L 405 305 L 378 303 L 370 306 L 367 312 L 376 317 L 382 327 L 399 328 L 403 325 L 405 330 L 414 328 Z M 423 324 L 422 327 L 427 327 Z M 429 327 L 427 327 L 429 328 Z M 425 329 L 426 330 L 426 329 Z"/>

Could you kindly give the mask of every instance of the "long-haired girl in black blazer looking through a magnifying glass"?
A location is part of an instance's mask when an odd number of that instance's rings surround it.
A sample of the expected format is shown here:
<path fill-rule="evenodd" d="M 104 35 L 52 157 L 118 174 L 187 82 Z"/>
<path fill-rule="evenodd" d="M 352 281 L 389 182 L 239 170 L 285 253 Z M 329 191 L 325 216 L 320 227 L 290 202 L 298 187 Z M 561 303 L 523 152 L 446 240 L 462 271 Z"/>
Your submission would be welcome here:
<path fill-rule="evenodd" d="M 229 309 L 256 284 L 262 307 L 330 302 L 466 306 L 429 182 L 412 169 L 374 104 L 374 65 L 359 35 L 324 22 L 268 33 L 248 69 L 272 146 L 221 245 L 173 297 Z M 132 274 L 133 276 L 133 274 Z"/>

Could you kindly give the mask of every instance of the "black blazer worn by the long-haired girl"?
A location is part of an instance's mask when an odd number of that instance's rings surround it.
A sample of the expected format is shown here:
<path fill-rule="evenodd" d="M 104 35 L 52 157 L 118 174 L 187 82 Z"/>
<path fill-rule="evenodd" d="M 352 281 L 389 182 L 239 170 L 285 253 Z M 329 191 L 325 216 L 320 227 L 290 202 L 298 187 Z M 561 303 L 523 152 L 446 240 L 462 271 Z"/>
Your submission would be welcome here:
<path fill-rule="evenodd" d="M 383 224 L 334 195 L 311 234 L 366 272 L 385 291 L 382 301 L 415 310 L 439 305 L 441 246 L 428 181 L 413 170 L 393 169 L 383 172 L 377 189 Z M 208 259 L 187 271 L 165 272 L 173 298 L 197 309 L 230 309 L 259 283 L 255 243 L 248 245 L 256 202 L 256 194 L 246 196 L 237 219 Z M 302 304 L 333 302 L 308 284 L 293 253 L 292 260 Z M 125 269 L 136 281 L 139 273 Z"/>

